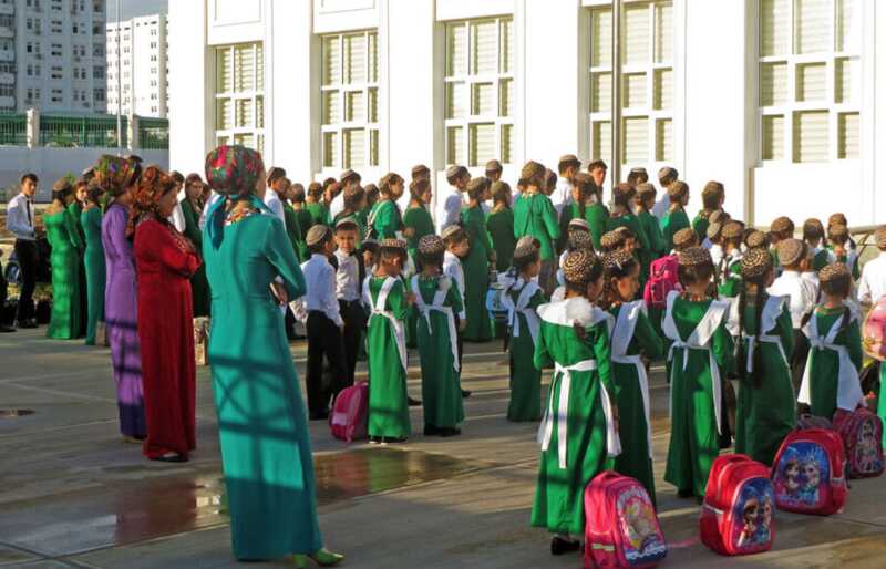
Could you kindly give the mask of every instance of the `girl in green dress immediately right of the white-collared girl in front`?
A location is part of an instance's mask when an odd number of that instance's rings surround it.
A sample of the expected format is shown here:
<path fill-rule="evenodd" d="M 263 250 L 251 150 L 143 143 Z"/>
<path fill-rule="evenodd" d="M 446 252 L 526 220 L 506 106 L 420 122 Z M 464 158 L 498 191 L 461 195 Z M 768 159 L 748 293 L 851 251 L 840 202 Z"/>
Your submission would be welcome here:
<path fill-rule="evenodd" d="M 635 300 L 640 288 L 637 258 L 626 251 L 607 254 L 604 267 L 606 288 L 600 307 L 612 317 L 609 345 L 622 445 L 615 468 L 639 480 L 655 504 L 649 377 L 643 358 L 660 358 L 663 344 L 646 314 L 643 301 Z"/>

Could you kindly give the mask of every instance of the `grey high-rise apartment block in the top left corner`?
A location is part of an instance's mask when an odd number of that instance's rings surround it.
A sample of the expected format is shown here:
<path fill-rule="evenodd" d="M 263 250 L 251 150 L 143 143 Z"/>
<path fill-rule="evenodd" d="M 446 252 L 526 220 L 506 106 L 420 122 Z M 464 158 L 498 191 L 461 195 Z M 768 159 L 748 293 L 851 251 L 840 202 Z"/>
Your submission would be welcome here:
<path fill-rule="evenodd" d="M 0 112 L 105 112 L 105 0 L 0 0 Z"/>

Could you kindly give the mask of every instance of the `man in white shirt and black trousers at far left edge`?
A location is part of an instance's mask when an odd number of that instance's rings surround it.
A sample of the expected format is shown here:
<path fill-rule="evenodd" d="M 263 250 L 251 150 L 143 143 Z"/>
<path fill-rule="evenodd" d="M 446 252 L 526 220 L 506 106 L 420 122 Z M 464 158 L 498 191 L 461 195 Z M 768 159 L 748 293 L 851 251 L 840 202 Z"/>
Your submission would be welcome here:
<path fill-rule="evenodd" d="M 40 260 L 37 239 L 41 237 L 34 228 L 33 199 L 37 185 L 37 174 L 25 174 L 19 184 L 19 195 L 7 204 L 7 230 L 16 236 L 16 259 L 21 275 L 19 307 L 16 314 L 18 328 L 37 328 L 33 297 L 37 288 L 37 265 Z"/>

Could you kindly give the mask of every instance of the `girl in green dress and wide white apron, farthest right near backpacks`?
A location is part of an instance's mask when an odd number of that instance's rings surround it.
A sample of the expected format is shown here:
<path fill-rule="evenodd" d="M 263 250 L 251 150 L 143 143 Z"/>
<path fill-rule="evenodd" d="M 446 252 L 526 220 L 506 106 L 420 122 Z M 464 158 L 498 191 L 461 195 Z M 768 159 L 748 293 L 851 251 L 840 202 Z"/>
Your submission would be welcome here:
<path fill-rule="evenodd" d="M 811 348 L 797 401 L 810 405 L 813 415 L 831 417 L 838 408 L 853 412 L 865 404 L 858 381 L 864 353 L 859 314 L 847 300 L 853 284 L 849 269 L 835 262 L 818 278 L 822 303 L 803 329 Z"/>

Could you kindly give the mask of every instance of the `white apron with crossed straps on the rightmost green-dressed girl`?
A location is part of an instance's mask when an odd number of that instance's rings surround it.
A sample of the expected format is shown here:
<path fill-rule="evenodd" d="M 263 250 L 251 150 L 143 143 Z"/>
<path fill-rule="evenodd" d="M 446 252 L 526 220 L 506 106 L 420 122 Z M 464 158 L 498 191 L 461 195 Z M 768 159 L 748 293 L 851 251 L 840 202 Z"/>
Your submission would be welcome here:
<path fill-rule="evenodd" d="M 851 315 L 851 321 L 855 315 Z M 862 384 L 858 380 L 858 370 L 852 363 L 849 351 L 845 345 L 834 343 L 839 333 L 839 324 L 843 317 L 838 318 L 827 335 L 818 333 L 818 322 L 813 313 L 803 333 L 810 339 L 810 355 L 806 359 L 806 370 L 803 372 L 803 382 L 800 384 L 800 395 L 797 401 L 807 405 L 812 404 L 812 355 L 813 350 L 831 350 L 839 358 L 839 371 L 837 372 L 837 407 L 845 411 L 855 411 L 858 405 L 866 406 Z"/>

